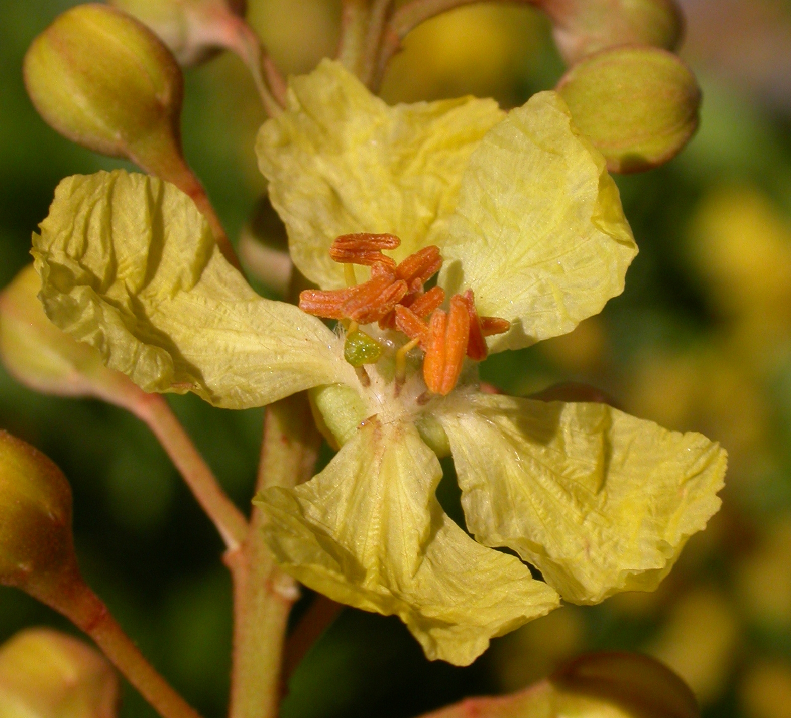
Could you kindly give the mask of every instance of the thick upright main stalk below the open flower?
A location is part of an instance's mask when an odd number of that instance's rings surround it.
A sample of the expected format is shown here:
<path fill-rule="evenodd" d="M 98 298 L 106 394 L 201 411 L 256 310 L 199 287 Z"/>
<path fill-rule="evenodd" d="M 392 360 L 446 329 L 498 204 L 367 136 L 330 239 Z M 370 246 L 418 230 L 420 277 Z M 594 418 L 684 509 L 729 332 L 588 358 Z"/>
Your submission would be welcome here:
<path fill-rule="evenodd" d="M 294 487 L 310 479 L 319 445 L 320 434 L 304 394 L 271 404 L 264 420 L 256 490 Z M 225 554 L 233 575 L 231 718 L 278 715 L 286 628 L 299 588 L 264 543 L 267 521 L 263 509 L 254 506 L 247 539 Z"/>

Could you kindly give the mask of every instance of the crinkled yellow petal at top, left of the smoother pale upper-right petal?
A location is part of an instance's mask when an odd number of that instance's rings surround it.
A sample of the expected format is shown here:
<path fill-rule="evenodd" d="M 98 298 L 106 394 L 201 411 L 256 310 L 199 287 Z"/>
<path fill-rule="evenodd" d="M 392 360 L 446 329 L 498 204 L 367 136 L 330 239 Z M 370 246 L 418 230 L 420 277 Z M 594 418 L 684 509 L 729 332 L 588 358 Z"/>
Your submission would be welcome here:
<path fill-rule="evenodd" d="M 389 107 L 330 60 L 293 78 L 286 111 L 263 125 L 255 148 L 294 264 L 339 288 L 343 267 L 327 254 L 339 235 L 398 235 L 396 260 L 437 244 L 471 152 L 504 116 L 494 100 L 472 97 Z"/>

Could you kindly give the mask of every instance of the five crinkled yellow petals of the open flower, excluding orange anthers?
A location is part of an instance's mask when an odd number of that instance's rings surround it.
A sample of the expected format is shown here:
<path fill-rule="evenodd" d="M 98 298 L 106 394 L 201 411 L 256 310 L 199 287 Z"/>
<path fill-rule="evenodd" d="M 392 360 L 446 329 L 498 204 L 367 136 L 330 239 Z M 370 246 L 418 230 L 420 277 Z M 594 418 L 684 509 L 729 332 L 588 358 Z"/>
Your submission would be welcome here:
<path fill-rule="evenodd" d="M 329 255 L 339 235 L 397 235 L 395 261 L 437 246 L 439 286 L 510 322 L 489 351 L 596 314 L 636 253 L 604 160 L 553 92 L 508 115 L 469 98 L 388 107 L 327 61 L 292 81 L 258 152 L 302 273 L 345 287 Z M 52 321 L 146 391 L 246 408 L 311 389 L 340 449 L 308 483 L 259 496 L 267 541 L 310 588 L 399 615 L 430 658 L 470 663 L 560 596 L 655 588 L 720 505 L 725 452 L 699 434 L 479 393 L 472 362 L 430 393 L 419 352 L 399 373 L 406 337 L 376 325 L 379 358 L 353 367 L 342 329 L 256 295 L 191 200 L 157 179 L 64 180 L 33 254 Z M 434 495 L 448 452 L 476 540 Z"/>

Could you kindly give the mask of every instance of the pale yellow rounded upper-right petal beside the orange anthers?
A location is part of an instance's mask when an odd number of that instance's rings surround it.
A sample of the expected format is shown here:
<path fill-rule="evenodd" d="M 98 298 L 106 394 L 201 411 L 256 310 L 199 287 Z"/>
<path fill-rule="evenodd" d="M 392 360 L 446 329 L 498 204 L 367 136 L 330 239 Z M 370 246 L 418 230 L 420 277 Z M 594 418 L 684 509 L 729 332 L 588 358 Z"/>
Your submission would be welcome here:
<path fill-rule="evenodd" d="M 440 284 L 513 322 L 491 351 L 570 332 L 623 291 L 637 246 L 604 157 L 556 92 L 539 92 L 472 153 Z"/>

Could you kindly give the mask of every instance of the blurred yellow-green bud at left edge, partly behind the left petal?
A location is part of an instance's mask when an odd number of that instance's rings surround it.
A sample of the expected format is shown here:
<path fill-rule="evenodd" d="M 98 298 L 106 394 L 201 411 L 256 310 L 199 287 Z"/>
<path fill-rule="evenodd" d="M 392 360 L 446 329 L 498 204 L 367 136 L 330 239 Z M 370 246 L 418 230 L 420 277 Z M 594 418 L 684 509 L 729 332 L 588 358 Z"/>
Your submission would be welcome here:
<path fill-rule="evenodd" d="M 30 389 L 61 397 L 92 396 L 127 406 L 140 390 L 108 369 L 99 352 L 74 340 L 44 314 L 41 280 L 28 265 L 0 293 L 0 359 Z"/>

